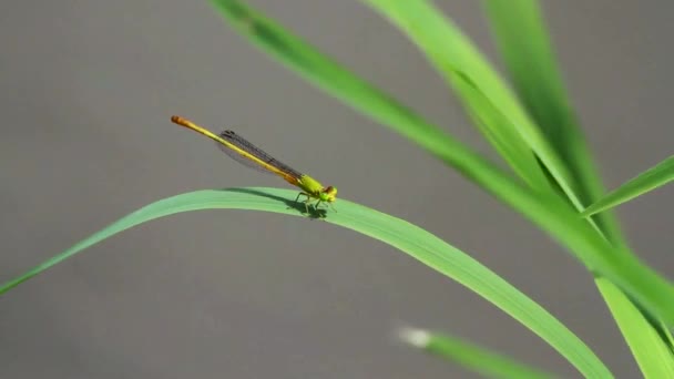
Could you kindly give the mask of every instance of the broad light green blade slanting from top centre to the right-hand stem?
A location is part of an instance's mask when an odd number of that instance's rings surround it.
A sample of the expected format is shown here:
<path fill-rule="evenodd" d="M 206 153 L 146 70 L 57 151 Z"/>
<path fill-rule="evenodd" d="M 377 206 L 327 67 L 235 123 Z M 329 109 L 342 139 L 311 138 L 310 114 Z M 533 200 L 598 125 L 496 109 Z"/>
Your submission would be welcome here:
<path fill-rule="evenodd" d="M 538 164 L 538 157 L 572 204 L 579 209 L 582 207 L 574 192 L 573 178 L 563 161 L 506 82 L 440 10 L 427 0 L 362 1 L 387 17 L 419 47 L 446 81 L 455 88 L 469 114 L 483 115 L 483 119 L 491 121 L 481 125 L 489 129 L 488 137 L 498 136 L 500 143 L 497 148 L 499 145 L 510 145 L 510 148 L 521 152 L 518 156 L 503 157 L 518 173 L 529 170 L 525 175 L 529 175 L 527 182 L 530 185 L 535 183 L 535 190 L 550 191 L 550 186 L 540 184 L 544 173 Z M 489 106 L 484 106 L 486 100 Z M 493 137 L 489 139 L 493 141 Z M 499 152 L 508 153 L 503 148 L 499 148 Z M 517 170 L 518 166 L 520 170 Z"/>

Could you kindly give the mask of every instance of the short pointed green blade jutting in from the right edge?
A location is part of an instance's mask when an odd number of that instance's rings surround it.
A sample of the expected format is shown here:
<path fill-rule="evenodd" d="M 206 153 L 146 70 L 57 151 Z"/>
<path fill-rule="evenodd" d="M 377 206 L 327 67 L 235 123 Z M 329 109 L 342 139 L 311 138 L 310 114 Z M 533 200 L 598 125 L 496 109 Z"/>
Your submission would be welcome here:
<path fill-rule="evenodd" d="M 662 161 L 657 165 L 641 173 L 639 176 L 624 183 L 596 203 L 583 211 L 583 216 L 591 216 L 595 213 L 612 208 L 632 198 L 663 186 L 674 180 L 674 155 Z"/>

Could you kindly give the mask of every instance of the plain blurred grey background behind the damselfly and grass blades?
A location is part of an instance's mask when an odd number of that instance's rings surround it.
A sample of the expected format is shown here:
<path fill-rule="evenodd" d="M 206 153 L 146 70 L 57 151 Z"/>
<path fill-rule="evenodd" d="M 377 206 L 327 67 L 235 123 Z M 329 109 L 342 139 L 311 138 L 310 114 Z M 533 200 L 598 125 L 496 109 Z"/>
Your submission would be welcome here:
<path fill-rule="evenodd" d="M 473 0 L 437 1 L 498 62 Z M 494 157 L 416 49 L 358 1 L 255 0 Z M 609 187 L 673 151 L 665 0 L 545 1 Z M 535 227 L 228 29 L 206 1 L 0 4 L 0 281 L 153 201 L 285 186 L 170 123 L 232 127 L 339 195 L 406 218 L 547 307 L 619 377 L 639 370 L 591 277 Z M 674 278 L 674 187 L 620 208 Z M 472 378 L 396 341 L 446 330 L 578 377 L 500 310 L 400 252 L 321 222 L 241 211 L 162 218 L 0 299 L 1 378 Z"/>

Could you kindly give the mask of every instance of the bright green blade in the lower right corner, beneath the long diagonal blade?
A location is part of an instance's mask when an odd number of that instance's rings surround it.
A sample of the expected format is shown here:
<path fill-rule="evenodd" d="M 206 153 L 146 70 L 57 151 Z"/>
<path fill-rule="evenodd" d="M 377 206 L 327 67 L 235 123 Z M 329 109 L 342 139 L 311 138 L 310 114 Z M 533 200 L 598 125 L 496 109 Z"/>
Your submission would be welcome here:
<path fill-rule="evenodd" d="M 674 358 L 666 338 L 662 338 L 620 288 L 604 278 L 598 278 L 596 284 L 602 295 L 612 299 L 607 305 L 644 378 L 674 378 Z M 667 332 L 665 337 L 668 336 Z"/>

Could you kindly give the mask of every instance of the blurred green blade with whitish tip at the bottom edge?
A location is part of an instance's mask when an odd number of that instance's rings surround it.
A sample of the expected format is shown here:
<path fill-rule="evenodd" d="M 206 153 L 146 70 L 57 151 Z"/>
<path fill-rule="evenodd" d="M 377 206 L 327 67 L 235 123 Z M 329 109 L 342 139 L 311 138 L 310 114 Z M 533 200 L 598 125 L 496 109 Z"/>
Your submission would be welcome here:
<path fill-rule="evenodd" d="M 531 368 L 512 358 L 445 334 L 405 328 L 400 330 L 400 338 L 416 348 L 455 361 L 484 377 L 503 379 L 556 378 L 555 375 Z"/>

